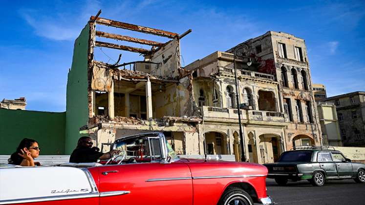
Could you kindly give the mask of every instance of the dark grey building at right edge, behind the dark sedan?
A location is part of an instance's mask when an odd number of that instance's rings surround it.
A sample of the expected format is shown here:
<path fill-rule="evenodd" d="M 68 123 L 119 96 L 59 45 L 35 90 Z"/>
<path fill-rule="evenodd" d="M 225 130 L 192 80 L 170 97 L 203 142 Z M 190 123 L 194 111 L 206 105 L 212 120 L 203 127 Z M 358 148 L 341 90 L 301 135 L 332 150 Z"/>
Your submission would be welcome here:
<path fill-rule="evenodd" d="M 353 92 L 322 99 L 336 106 L 344 146 L 365 147 L 365 92 Z"/>

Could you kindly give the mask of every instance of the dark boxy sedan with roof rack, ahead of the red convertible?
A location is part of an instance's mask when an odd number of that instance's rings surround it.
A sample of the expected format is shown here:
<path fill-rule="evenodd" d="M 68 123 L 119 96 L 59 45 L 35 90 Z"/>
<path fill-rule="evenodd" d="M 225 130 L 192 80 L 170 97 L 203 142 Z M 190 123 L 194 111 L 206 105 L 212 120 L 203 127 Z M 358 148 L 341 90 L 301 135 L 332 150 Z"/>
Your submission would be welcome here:
<path fill-rule="evenodd" d="M 267 178 L 279 185 L 288 180 L 308 180 L 314 186 L 322 186 L 325 180 L 354 179 L 365 183 L 365 164 L 353 163 L 330 147 L 306 147 L 283 152 L 277 163 L 263 164 L 269 170 Z"/>

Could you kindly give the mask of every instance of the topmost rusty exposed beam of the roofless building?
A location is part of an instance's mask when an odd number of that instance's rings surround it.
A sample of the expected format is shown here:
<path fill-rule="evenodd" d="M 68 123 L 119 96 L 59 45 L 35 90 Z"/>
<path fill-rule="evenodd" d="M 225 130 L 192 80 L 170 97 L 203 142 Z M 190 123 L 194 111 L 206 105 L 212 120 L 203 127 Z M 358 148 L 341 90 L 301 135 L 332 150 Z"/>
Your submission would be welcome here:
<path fill-rule="evenodd" d="M 132 31 L 138 31 L 138 32 L 147 33 L 147 34 L 153 34 L 153 35 L 157 35 L 157 36 L 167 37 L 170 39 L 173 39 L 173 38 L 179 36 L 179 34 L 173 33 L 170 31 L 164 31 L 164 30 L 160 30 L 160 29 L 149 28 L 149 27 L 145 27 L 145 26 L 124 23 L 124 22 L 120 22 L 120 21 L 113 21 L 113 20 L 104 19 L 104 18 L 100 18 L 100 17 L 99 18 L 96 18 L 94 16 L 90 17 L 91 21 L 94 21 L 94 19 L 96 19 L 96 23 L 98 23 L 98 24 L 128 29 L 128 30 L 132 30 Z"/>

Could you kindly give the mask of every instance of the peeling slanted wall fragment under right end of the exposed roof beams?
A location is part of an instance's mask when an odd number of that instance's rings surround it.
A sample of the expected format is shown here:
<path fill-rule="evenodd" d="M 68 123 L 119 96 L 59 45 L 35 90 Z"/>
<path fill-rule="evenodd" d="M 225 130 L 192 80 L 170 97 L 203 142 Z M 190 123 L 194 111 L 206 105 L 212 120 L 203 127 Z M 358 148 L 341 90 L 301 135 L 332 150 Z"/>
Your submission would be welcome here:
<path fill-rule="evenodd" d="M 180 68 L 180 45 L 178 39 L 169 41 L 165 46 L 162 46 L 147 58 L 151 62 L 160 63 L 156 67 L 152 66 L 151 75 L 170 78 L 176 78 L 180 75 L 178 71 Z"/>

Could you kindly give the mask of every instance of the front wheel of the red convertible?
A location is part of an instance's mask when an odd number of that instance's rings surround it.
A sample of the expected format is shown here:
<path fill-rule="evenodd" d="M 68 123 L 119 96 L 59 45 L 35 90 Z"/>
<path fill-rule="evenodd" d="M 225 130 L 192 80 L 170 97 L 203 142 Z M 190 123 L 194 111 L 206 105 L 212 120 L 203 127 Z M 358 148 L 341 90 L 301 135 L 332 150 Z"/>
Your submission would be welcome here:
<path fill-rule="evenodd" d="M 254 202 L 243 189 L 231 187 L 223 193 L 218 205 L 254 205 Z"/>

